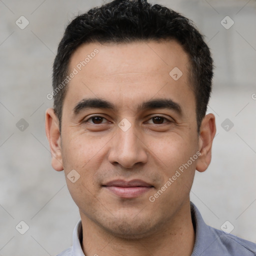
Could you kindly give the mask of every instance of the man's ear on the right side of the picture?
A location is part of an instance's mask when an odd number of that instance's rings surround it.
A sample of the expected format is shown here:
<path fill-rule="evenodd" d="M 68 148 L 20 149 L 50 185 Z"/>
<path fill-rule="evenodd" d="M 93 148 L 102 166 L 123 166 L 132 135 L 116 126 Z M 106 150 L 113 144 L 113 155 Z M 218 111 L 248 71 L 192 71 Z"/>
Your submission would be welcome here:
<path fill-rule="evenodd" d="M 216 133 L 215 116 L 212 113 L 206 114 L 202 119 L 199 134 L 199 151 L 196 169 L 205 171 L 211 160 L 212 140 Z"/>

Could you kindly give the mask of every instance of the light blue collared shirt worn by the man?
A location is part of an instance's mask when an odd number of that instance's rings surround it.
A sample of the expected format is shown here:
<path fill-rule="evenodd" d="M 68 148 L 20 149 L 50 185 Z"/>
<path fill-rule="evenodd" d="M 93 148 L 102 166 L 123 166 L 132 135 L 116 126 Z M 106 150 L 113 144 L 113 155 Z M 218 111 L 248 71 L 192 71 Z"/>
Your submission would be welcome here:
<path fill-rule="evenodd" d="M 256 256 L 256 243 L 206 225 L 192 202 L 190 207 L 195 228 L 195 243 L 191 256 Z M 57 256 L 84 256 L 81 240 L 82 226 L 79 220 L 73 230 L 73 245 Z"/>

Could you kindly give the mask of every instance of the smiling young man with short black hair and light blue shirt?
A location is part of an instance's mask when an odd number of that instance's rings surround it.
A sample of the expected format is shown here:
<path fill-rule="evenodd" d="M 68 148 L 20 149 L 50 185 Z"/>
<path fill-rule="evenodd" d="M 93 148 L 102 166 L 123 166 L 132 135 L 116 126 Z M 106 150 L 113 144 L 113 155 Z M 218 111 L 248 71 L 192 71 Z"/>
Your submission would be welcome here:
<path fill-rule="evenodd" d="M 45 122 L 81 217 L 58 255 L 256 255 L 189 199 L 211 160 L 211 79 L 202 35 L 166 7 L 114 0 L 72 20 Z"/>

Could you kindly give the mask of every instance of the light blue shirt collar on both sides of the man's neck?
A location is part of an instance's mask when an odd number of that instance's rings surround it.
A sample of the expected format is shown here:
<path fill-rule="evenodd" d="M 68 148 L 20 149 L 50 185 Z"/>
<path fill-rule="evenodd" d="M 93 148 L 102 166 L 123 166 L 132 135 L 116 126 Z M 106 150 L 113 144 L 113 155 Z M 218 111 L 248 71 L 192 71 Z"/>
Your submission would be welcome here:
<path fill-rule="evenodd" d="M 211 251 L 218 251 L 218 247 L 214 248 L 214 241 L 219 239 L 218 235 L 215 232 L 210 230 L 210 227 L 207 226 L 199 210 L 196 206 L 190 202 L 191 217 L 195 230 L 195 243 L 191 256 L 201 255 L 209 246 L 211 246 Z M 73 230 L 73 246 L 72 246 L 72 256 L 85 256 L 82 248 L 82 223 L 79 220 Z"/>

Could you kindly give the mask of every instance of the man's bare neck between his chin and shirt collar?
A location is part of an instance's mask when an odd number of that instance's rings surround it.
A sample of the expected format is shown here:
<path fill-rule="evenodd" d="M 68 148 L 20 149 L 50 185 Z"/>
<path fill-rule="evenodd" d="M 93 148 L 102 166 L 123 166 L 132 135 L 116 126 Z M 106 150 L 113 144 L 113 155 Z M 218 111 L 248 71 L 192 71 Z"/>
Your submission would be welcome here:
<path fill-rule="evenodd" d="M 190 204 L 184 203 L 168 222 L 139 239 L 124 239 L 109 233 L 81 214 L 82 249 L 85 256 L 190 256 L 194 246 Z"/>

